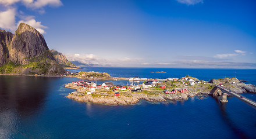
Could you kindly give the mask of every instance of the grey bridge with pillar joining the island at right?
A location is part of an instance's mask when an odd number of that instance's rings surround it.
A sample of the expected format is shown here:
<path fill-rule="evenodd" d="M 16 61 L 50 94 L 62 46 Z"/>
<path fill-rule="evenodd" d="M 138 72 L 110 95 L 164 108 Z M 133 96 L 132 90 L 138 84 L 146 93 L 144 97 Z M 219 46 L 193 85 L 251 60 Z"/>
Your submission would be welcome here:
<path fill-rule="evenodd" d="M 243 97 L 240 94 L 237 94 L 235 92 L 232 92 L 232 90 L 226 89 L 225 87 L 222 87 L 219 85 L 215 85 L 215 86 L 218 87 L 222 91 L 221 103 L 227 103 L 227 94 L 229 94 L 230 96 L 239 98 L 239 100 L 243 101 L 244 103 L 246 103 L 246 104 L 250 105 L 251 107 L 253 107 L 254 109 L 256 109 L 255 101 L 250 100 L 246 97 Z"/>

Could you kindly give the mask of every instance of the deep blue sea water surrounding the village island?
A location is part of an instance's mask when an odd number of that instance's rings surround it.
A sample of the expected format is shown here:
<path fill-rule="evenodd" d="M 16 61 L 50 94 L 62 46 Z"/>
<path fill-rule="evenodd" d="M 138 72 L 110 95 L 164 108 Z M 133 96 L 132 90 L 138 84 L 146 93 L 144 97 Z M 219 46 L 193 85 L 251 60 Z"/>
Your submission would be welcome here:
<path fill-rule="evenodd" d="M 166 71 L 168 77 L 189 74 L 204 80 L 210 75 L 218 78 L 236 72 L 237 78 L 255 82 L 253 69 L 180 69 L 187 70 L 183 73 L 179 69 L 106 68 L 105 72 L 111 76 L 121 73 L 116 75 L 146 77 L 152 70 Z M 66 98 L 74 90 L 63 87 L 77 80 L 0 76 L 0 138 L 256 138 L 256 110 L 234 97 L 229 97 L 226 104 L 211 96 L 203 100 L 192 97 L 186 101 L 140 101 L 117 106 L 79 103 Z M 255 94 L 243 96 L 256 100 Z"/>

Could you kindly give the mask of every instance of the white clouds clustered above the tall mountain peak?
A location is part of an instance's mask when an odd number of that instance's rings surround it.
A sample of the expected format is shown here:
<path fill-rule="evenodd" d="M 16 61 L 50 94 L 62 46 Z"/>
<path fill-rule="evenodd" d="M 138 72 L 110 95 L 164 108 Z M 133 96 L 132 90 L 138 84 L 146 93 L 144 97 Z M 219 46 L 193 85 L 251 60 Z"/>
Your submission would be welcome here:
<path fill-rule="evenodd" d="M 41 34 L 45 33 L 45 25 L 41 24 L 41 21 L 36 21 L 34 16 L 26 16 L 23 12 L 17 12 L 17 8 L 20 5 L 26 6 L 31 10 L 37 10 L 40 13 L 44 13 L 45 6 L 61 6 L 60 0 L 0 0 L 0 5 L 5 10 L 0 10 L 0 28 L 14 32 L 20 23 L 26 23 L 34 27 Z M 17 17 L 20 19 L 16 21 Z"/>

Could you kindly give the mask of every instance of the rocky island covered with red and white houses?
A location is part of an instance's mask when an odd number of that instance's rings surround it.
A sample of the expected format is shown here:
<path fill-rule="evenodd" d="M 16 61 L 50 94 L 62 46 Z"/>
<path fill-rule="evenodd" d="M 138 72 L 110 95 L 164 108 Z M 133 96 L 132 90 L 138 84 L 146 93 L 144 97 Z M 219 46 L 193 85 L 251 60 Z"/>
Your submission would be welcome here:
<path fill-rule="evenodd" d="M 72 82 L 67 83 L 65 87 L 76 89 L 76 92 L 69 93 L 66 97 L 76 101 L 105 105 L 129 105 L 136 104 L 140 100 L 154 102 L 187 100 L 194 96 L 200 96 L 198 98 L 202 99 L 206 95 L 221 95 L 221 90 L 214 85 L 216 83 L 222 83 L 227 89 L 237 93 L 256 93 L 254 85 L 247 85 L 236 78 L 212 79 L 211 82 L 205 82 L 190 76 L 187 77 L 189 77 L 187 80 L 175 78 L 174 81 L 172 78 L 168 78 L 161 83 L 144 82 L 141 85 L 125 87 L 111 83 L 108 83 L 111 84 L 110 86 L 105 86 L 107 83 L 94 85 L 95 83 L 91 82 Z M 193 83 L 187 85 L 191 79 L 194 83 L 196 82 L 195 85 Z M 95 90 L 92 91 L 94 87 Z"/>

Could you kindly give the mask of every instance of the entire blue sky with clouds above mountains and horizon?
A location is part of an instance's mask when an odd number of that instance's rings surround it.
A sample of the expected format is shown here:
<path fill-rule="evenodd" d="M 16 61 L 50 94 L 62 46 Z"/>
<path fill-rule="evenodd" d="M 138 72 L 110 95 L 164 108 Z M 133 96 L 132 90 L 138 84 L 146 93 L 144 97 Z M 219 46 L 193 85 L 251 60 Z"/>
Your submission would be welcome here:
<path fill-rule="evenodd" d="M 256 68 L 256 1 L 0 0 L 0 28 L 25 22 L 49 49 L 103 67 Z"/>

